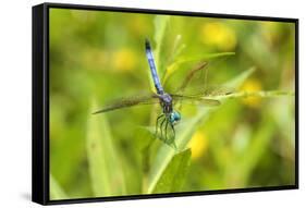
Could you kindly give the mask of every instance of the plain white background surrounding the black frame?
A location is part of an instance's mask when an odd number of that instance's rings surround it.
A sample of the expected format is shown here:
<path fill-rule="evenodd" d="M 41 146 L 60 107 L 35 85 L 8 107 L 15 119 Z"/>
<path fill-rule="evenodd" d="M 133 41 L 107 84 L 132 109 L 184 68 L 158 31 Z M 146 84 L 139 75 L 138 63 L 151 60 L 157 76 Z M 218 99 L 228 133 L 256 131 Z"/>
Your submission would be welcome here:
<path fill-rule="evenodd" d="M 59 2 L 60 0 L 58 0 Z M 198 11 L 299 19 L 299 189 L 162 199 L 90 203 L 73 207 L 302 207 L 305 184 L 305 37 L 303 0 L 86 0 L 69 3 Z M 0 12 L 0 207 L 41 207 L 30 201 L 32 5 L 37 0 L 2 1 Z M 72 205 L 59 206 L 71 207 Z M 304 205 L 305 206 L 305 205 Z"/>

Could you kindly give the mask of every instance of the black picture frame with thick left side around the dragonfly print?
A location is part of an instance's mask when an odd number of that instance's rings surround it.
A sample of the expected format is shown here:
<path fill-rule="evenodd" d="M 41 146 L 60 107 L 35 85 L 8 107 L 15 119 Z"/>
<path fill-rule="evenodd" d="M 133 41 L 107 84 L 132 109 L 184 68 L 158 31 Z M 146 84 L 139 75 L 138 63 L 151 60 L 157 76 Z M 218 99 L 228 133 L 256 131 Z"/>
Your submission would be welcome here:
<path fill-rule="evenodd" d="M 49 9 L 76 9 L 146 14 L 168 14 L 183 16 L 222 17 L 236 20 L 259 20 L 290 22 L 295 24 L 295 184 L 285 186 L 235 188 L 220 191 L 113 196 L 96 198 L 73 198 L 50 200 L 49 198 Z M 33 150 L 32 150 L 32 200 L 41 205 L 90 203 L 107 200 L 144 199 L 159 197 L 194 196 L 298 188 L 298 19 L 213 14 L 134 8 L 112 8 L 98 5 L 42 3 L 33 7 Z"/>

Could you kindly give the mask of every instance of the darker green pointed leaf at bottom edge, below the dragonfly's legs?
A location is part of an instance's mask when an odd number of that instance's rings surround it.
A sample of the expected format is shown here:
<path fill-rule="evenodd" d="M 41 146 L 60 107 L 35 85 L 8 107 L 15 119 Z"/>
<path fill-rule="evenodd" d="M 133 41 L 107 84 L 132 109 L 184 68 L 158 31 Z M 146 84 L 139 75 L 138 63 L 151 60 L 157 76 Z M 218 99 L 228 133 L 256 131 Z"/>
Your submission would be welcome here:
<path fill-rule="evenodd" d="M 185 180 L 191 155 L 191 149 L 175 155 L 163 171 L 152 193 L 179 192 Z"/>

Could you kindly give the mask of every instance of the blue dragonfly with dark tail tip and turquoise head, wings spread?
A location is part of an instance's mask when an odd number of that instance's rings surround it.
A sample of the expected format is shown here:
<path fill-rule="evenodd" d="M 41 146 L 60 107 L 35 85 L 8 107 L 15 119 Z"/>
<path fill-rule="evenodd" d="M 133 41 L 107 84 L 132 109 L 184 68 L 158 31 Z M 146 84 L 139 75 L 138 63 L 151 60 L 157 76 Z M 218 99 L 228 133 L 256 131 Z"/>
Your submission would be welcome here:
<path fill-rule="evenodd" d="M 93 114 L 105 113 L 118 109 L 134 107 L 138 105 L 154 105 L 159 103 L 161 108 L 161 114 L 156 119 L 156 130 L 155 135 L 168 145 L 174 145 L 175 147 L 175 125 L 182 120 L 182 115 L 179 110 L 174 109 L 174 103 L 176 102 L 196 102 L 205 106 L 219 106 L 220 101 L 216 99 L 205 98 L 203 95 L 184 95 L 184 94 L 171 94 L 163 89 L 160 82 L 159 75 L 157 73 L 157 68 L 155 64 L 154 53 L 148 39 L 145 40 L 145 52 L 147 61 L 149 64 L 150 75 L 155 85 L 155 93 L 133 96 L 128 98 L 122 98 L 119 100 L 113 100 L 109 105 L 105 106 L 102 109 L 95 111 Z M 186 76 L 185 81 L 182 83 L 180 90 L 188 84 L 192 76 L 196 71 L 204 68 L 206 63 L 199 65 L 195 70 L 191 71 Z"/>

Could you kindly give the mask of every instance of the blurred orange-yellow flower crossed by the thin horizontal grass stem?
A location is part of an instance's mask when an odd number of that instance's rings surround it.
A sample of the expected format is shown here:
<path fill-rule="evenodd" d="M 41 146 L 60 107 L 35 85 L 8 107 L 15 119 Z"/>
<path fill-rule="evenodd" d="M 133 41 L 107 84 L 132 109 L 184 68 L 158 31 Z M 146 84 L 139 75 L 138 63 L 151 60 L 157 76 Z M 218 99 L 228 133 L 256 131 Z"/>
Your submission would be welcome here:
<path fill-rule="evenodd" d="M 261 84 L 257 79 L 248 79 L 242 87 L 242 91 L 259 91 L 261 90 Z M 252 108 L 258 108 L 260 105 L 261 98 L 260 97 L 247 97 L 243 99 L 243 102 Z"/>

